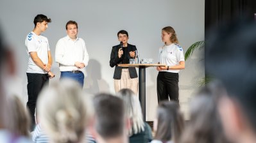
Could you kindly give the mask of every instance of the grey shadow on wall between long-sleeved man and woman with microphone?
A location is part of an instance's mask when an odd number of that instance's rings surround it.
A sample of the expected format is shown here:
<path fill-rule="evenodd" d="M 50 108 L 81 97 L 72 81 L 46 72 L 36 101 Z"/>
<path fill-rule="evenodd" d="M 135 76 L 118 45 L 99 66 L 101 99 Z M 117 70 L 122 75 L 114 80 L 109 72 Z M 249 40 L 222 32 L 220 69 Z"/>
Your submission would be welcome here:
<path fill-rule="evenodd" d="M 101 76 L 101 64 L 96 59 L 90 59 L 87 66 L 87 77 L 85 77 L 85 93 L 97 94 L 99 92 L 109 93 L 110 88 L 106 80 Z"/>

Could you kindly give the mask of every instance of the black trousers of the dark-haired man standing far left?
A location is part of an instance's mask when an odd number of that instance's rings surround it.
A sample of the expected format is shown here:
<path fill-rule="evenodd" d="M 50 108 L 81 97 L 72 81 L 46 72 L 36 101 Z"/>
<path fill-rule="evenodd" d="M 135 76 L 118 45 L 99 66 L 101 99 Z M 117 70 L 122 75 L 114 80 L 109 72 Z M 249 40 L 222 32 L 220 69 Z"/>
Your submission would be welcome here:
<path fill-rule="evenodd" d="M 27 73 L 28 77 L 28 102 L 27 107 L 31 117 L 31 130 L 35 127 L 35 107 L 37 105 L 37 96 L 44 85 L 49 84 L 47 74 Z"/>

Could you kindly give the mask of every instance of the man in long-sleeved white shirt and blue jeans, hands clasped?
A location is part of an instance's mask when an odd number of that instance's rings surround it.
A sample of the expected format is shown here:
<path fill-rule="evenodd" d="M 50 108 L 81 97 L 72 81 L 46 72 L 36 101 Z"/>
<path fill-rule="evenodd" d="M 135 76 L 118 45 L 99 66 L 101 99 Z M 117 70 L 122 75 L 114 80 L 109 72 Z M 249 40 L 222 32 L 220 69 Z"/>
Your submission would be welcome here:
<path fill-rule="evenodd" d="M 69 20 L 66 24 L 67 36 L 58 40 L 55 49 L 55 59 L 60 67 L 60 79 L 71 78 L 83 87 L 85 66 L 88 65 L 89 55 L 85 41 L 78 38 L 78 24 Z"/>

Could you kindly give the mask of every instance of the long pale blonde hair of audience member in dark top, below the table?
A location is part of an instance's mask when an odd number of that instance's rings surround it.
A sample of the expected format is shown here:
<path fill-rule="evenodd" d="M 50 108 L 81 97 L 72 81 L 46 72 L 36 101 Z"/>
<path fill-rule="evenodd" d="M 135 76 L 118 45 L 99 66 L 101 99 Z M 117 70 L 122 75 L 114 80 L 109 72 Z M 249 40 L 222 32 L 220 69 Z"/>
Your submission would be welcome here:
<path fill-rule="evenodd" d="M 124 102 L 125 115 L 130 119 L 132 128 L 129 129 L 129 135 L 140 133 L 144 131 L 144 121 L 142 118 L 141 103 L 138 96 L 136 96 L 130 89 L 121 89 L 117 96 Z"/>

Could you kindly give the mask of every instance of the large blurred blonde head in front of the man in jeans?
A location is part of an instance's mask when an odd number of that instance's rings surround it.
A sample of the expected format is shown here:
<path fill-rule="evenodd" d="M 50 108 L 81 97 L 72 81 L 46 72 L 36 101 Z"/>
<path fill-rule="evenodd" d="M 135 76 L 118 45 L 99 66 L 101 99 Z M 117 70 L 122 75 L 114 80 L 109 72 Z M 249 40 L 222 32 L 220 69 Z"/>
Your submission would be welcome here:
<path fill-rule="evenodd" d="M 50 142 L 83 142 L 89 107 L 78 82 L 64 79 L 44 88 L 37 109 Z"/>

